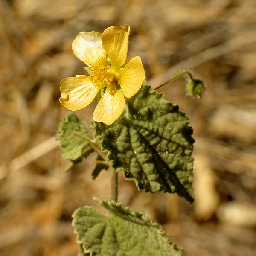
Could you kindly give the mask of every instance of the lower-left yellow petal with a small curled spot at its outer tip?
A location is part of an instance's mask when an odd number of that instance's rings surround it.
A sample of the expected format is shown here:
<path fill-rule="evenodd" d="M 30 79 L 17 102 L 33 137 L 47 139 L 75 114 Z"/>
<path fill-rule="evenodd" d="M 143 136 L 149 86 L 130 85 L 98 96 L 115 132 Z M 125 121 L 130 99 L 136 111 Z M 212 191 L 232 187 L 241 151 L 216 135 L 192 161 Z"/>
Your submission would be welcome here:
<path fill-rule="evenodd" d="M 93 101 L 100 88 L 90 76 L 67 77 L 61 81 L 59 101 L 69 110 L 79 110 Z"/>

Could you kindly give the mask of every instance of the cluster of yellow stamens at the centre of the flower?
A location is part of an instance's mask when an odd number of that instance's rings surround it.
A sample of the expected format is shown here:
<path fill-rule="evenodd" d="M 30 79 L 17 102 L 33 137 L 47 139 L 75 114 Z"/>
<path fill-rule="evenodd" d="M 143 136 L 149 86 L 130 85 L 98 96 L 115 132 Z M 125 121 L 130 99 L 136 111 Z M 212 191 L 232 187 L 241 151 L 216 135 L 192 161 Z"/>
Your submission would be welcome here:
<path fill-rule="evenodd" d="M 93 72 L 91 79 L 98 86 L 103 87 L 106 84 L 109 84 L 113 80 L 116 80 L 116 74 L 113 72 L 110 66 L 96 66 L 91 67 L 90 70 Z"/>

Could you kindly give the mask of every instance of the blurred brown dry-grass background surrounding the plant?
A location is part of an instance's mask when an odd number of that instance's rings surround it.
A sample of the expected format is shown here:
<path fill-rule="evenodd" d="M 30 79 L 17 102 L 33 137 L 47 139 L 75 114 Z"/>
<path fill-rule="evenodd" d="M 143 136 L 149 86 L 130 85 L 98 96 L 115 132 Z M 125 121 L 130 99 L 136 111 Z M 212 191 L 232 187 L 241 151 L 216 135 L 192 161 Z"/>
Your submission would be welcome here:
<path fill-rule="evenodd" d="M 61 79 L 85 74 L 72 52 L 79 32 L 131 27 L 128 59 L 141 56 L 194 129 L 195 203 L 138 192 L 119 175 L 120 201 L 163 225 L 185 256 L 256 252 L 255 0 L 0 1 L 0 255 L 76 256 L 73 211 L 109 196 L 109 175 L 90 175 L 95 154 L 65 172 L 55 134 L 67 110 Z M 88 127 L 95 104 L 76 114 Z"/>

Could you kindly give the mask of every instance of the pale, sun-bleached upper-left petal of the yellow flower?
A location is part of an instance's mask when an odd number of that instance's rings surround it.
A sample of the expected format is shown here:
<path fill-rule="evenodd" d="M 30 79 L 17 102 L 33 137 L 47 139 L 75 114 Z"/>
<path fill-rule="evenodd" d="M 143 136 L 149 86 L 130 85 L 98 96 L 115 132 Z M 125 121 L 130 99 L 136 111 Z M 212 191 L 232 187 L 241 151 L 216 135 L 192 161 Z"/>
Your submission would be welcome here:
<path fill-rule="evenodd" d="M 76 57 L 89 67 L 108 66 L 101 36 L 101 33 L 95 31 L 80 32 L 72 43 L 72 50 Z"/>

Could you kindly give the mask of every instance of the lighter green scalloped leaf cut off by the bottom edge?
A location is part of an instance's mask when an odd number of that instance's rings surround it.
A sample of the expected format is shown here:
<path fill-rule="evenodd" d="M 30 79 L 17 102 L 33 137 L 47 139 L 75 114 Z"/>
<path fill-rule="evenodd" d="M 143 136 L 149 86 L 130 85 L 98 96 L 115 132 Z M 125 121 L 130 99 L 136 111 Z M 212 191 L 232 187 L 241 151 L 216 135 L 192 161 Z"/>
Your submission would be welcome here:
<path fill-rule="evenodd" d="M 178 247 L 162 228 L 144 213 L 114 201 L 96 199 L 110 211 L 103 216 L 93 207 L 81 207 L 73 214 L 77 242 L 85 255 L 95 256 L 181 256 Z"/>

